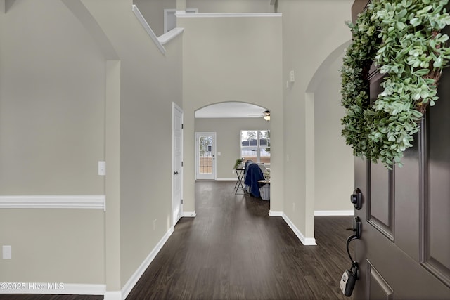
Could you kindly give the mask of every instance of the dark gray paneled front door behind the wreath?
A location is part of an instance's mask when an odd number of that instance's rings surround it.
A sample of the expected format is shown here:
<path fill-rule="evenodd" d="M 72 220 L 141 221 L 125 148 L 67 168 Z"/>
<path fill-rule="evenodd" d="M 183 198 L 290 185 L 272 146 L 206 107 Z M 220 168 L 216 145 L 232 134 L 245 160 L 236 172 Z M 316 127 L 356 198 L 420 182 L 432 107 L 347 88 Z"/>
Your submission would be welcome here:
<path fill-rule="evenodd" d="M 371 77 L 371 98 L 381 75 Z M 404 167 L 355 161 L 363 205 L 354 242 L 354 299 L 450 299 L 450 70 L 421 124 Z"/>

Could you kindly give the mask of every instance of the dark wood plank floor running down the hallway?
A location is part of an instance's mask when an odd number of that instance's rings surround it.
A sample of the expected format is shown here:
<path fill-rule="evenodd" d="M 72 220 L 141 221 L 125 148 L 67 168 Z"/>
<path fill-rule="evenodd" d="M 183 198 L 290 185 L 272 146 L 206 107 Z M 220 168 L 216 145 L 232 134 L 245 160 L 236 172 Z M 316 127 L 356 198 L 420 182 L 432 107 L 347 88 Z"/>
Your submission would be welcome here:
<path fill-rule="evenodd" d="M 234 183 L 196 183 L 195 218 L 182 218 L 127 300 L 349 299 L 339 280 L 350 263 L 350 216 L 316 216 L 317 246 L 303 246 L 269 202 L 234 195 Z M 15 300 L 102 296 L 0 295 Z"/>

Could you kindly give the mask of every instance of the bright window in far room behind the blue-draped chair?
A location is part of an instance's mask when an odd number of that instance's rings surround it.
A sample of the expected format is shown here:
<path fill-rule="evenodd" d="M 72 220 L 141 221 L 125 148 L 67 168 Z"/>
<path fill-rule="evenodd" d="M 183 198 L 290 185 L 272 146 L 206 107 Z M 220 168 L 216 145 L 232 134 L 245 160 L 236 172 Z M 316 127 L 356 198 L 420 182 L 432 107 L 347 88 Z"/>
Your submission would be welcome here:
<path fill-rule="evenodd" d="M 270 130 L 240 131 L 240 155 L 244 160 L 270 164 Z"/>

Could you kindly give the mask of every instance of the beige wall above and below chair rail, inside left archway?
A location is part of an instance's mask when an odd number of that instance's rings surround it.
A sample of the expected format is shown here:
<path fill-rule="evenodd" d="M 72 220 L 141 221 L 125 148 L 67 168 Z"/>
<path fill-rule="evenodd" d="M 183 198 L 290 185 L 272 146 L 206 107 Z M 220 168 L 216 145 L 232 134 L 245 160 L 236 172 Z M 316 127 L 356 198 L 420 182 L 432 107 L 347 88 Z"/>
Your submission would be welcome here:
<path fill-rule="evenodd" d="M 0 13 L 0 195 L 104 194 L 105 60 L 58 0 Z M 103 284 L 103 210 L 1 209 L 1 282 Z M 86 272 L 86 270 L 89 270 Z"/>

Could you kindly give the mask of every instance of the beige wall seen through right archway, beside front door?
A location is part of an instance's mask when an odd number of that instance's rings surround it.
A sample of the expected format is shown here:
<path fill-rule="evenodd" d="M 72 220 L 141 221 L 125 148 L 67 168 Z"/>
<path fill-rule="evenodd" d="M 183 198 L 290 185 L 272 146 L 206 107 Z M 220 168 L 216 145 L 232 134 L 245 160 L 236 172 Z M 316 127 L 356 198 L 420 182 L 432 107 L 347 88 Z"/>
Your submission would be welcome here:
<path fill-rule="evenodd" d="M 349 201 L 354 190 L 354 157 L 341 136 L 341 65 L 342 56 L 326 70 L 314 95 L 315 211 L 354 209 Z"/>

